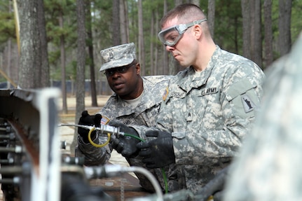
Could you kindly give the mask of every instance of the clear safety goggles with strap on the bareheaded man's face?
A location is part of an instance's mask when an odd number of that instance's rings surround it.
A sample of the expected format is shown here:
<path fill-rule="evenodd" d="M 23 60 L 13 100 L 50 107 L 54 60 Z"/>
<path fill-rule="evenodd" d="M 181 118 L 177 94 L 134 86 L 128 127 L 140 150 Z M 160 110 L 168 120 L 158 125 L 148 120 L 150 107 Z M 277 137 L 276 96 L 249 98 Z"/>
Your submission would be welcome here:
<path fill-rule="evenodd" d="M 186 32 L 186 29 L 205 21 L 207 21 L 207 18 L 204 18 L 203 20 L 194 20 L 187 24 L 174 25 L 173 27 L 163 29 L 159 32 L 158 38 L 166 46 L 175 46 L 175 44 L 181 39 L 182 34 Z"/>

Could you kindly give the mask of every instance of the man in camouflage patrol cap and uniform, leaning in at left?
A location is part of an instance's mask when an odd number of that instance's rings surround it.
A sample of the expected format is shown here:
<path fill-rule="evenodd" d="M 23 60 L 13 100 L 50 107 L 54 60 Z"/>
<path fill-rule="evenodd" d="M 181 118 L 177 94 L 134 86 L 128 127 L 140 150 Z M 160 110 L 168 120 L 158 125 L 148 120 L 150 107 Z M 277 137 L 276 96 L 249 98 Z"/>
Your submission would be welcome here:
<path fill-rule="evenodd" d="M 162 101 L 163 92 L 167 88 L 167 83 L 172 76 L 140 76 L 140 65 L 135 55 L 135 44 L 127 43 L 121 46 L 114 46 L 101 50 L 101 56 L 104 64 L 100 69 L 107 76 L 107 81 L 111 89 L 115 92 L 109 97 L 107 103 L 99 111 L 102 115 L 102 124 L 112 125 L 146 125 L 152 126 L 155 123 L 160 102 Z M 82 114 L 79 124 L 95 125 L 96 116 L 90 116 L 87 112 Z M 121 131 L 131 133 L 130 130 Z M 146 167 L 142 161 L 137 158 L 136 153 L 127 153 L 123 150 L 121 143 L 137 144 L 137 139 L 119 137 L 111 140 L 108 146 L 96 148 L 88 141 L 88 130 L 78 129 L 78 147 L 76 155 L 85 155 L 85 165 L 102 165 L 105 164 L 110 156 L 113 148 L 126 156 L 126 160 L 130 165 Z M 94 139 L 96 144 L 102 144 L 106 141 L 104 137 Z M 123 144 L 122 143 L 122 144 Z M 176 178 L 169 167 L 165 167 L 165 176 L 161 169 L 149 169 L 156 179 L 158 179 L 163 190 L 178 190 L 178 183 L 174 181 Z M 153 186 L 142 174 L 137 174 L 140 184 L 143 188 L 153 191 Z M 165 187 L 168 184 L 168 189 Z"/>

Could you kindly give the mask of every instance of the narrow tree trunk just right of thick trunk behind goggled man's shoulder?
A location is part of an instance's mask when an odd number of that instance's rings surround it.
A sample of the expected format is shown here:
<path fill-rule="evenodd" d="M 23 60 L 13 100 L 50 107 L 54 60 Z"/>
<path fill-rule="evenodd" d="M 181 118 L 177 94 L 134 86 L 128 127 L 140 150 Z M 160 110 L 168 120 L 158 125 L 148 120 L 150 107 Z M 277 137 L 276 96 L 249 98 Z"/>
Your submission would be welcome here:
<path fill-rule="evenodd" d="M 272 0 L 264 0 L 264 68 L 273 63 Z M 264 69 L 263 68 L 263 69 Z"/>

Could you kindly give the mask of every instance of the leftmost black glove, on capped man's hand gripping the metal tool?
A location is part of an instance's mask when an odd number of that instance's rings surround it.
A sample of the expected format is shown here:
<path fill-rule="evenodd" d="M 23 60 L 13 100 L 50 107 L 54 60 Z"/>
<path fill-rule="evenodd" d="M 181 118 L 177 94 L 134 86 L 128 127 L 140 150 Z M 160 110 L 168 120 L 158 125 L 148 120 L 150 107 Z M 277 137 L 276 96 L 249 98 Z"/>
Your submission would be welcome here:
<path fill-rule="evenodd" d="M 99 127 L 99 125 L 101 125 L 101 119 L 102 119 L 102 116 L 99 113 L 97 113 L 96 115 L 89 115 L 88 111 L 83 111 L 80 120 L 78 120 L 78 124 L 94 125 L 95 127 Z M 88 129 L 85 129 L 83 127 L 78 127 L 78 134 L 81 135 L 81 137 L 85 143 L 89 142 L 88 132 L 89 132 Z M 91 139 L 94 139 L 95 135 L 96 135 L 96 131 L 94 130 L 90 135 Z"/>

